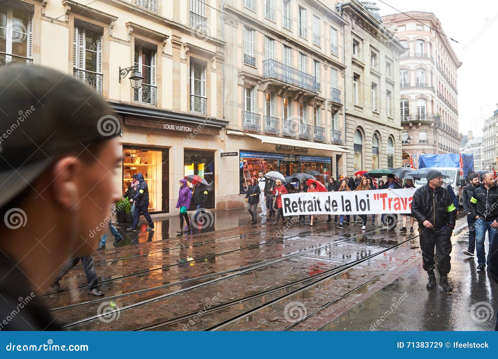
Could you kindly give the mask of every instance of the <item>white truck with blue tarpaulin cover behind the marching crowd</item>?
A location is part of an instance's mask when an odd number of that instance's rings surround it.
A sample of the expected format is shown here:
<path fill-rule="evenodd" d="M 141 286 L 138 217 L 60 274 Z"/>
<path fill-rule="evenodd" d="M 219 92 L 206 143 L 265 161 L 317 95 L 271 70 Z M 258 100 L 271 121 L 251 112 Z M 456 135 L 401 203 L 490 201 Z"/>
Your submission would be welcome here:
<path fill-rule="evenodd" d="M 460 171 L 460 158 L 462 158 L 463 176 Z M 474 173 L 474 155 L 468 153 L 449 153 L 445 155 L 420 155 L 419 168 L 433 168 L 448 176 L 444 181 L 450 184 L 458 198 L 458 203 L 463 204 L 463 189 L 466 186 L 465 179 Z M 427 184 L 427 179 L 415 180 L 415 187 Z"/>

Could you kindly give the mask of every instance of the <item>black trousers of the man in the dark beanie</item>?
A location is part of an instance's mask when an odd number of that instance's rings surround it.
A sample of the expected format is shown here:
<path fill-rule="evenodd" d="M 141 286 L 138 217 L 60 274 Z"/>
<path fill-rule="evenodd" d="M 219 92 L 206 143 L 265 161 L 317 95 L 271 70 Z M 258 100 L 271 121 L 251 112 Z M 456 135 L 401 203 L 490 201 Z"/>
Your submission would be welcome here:
<path fill-rule="evenodd" d="M 450 253 L 453 248 L 451 245 L 452 232 L 453 230 L 449 227 L 438 230 L 431 230 L 425 227 L 419 229 L 423 268 L 429 275 L 434 275 L 436 265 L 434 254 L 438 258 L 437 269 L 439 270 L 439 274 L 446 276 L 450 272 Z"/>

